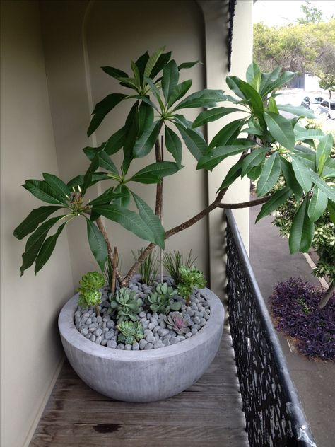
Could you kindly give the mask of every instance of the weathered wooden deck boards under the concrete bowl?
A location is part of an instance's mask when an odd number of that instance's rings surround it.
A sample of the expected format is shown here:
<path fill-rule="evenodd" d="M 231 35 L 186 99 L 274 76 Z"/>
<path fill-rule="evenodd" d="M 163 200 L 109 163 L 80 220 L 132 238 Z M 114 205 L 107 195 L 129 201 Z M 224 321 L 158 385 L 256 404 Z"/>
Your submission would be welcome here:
<path fill-rule="evenodd" d="M 245 447 L 230 336 L 213 364 L 180 395 L 148 404 L 111 400 L 66 362 L 30 447 Z"/>

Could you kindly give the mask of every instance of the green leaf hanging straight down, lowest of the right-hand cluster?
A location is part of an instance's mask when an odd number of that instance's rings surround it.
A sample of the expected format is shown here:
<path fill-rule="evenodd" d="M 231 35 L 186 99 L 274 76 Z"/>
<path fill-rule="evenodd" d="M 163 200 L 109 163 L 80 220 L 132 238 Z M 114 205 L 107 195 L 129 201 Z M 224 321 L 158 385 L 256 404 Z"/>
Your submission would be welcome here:
<path fill-rule="evenodd" d="M 296 252 L 308 252 L 312 239 L 314 236 L 314 224 L 308 217 L 308 205 L 310 198 L 306 195 L 297 214 L 295 214 L 290 228 L 290 237 L 288 238 L 288 245 L 290 247 L 290 254 Z"/>

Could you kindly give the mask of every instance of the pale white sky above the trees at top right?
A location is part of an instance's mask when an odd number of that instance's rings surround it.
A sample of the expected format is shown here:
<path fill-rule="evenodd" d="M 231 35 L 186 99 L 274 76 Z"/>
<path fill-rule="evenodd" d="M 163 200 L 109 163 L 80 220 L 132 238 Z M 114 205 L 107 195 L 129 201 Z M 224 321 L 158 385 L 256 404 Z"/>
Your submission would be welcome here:
<path fill-rule="evenodd" d="M 302 0 L 257 0 L 254 4 L 254 23 L 264 22 L 266 25 L 286 25 L 296 21 L 297 17 L 303 17 L 300 6 Z M 327 20 L 335 16 L 335 0 L 311 0 L 312 6 L 317 6 Z"/>

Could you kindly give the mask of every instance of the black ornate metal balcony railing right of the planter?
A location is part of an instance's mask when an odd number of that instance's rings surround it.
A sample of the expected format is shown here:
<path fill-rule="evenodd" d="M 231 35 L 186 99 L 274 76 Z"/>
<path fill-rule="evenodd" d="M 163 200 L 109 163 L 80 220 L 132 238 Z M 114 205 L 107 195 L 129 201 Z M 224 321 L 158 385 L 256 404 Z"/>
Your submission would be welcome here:
<path fill-rule="evenodd" d="M 249 444 L 316 447 L 233 214 L 226 216 L 230 332 Z"/>

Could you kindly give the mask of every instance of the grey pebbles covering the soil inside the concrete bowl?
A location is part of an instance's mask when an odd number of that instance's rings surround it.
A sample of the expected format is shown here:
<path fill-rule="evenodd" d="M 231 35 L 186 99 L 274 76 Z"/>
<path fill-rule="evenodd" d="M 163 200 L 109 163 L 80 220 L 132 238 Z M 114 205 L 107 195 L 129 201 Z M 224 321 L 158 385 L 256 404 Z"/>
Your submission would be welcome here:
<path fill-rule="evenodd" d="M 167 281 L 170 282 L 169 280 Z M 169 284 L 170 285 L 170 284 Z M 151 293 L 151 286 L 137 282 L 130 284 L 129 289 L 136 290 L 136 297 L 142 298 Z M 112 349 L 124 349 L 126 351 L 138 351 L 143 349 L 159 349 L 172 344 L 180 343 L 184 339 L 195 335 L 201 327 L 206 325 L 211 309 L 208 301 L 199 291 L 191 296 L 190 305 L 186 306 L 181 297 L 176 297 L 183 304 L 180 313 L 188 321 L 189 327 L 184 335 L 177 334 L 174 330 L 167 327 L 165 322 L 166 315 L 160 313 L 146 313 L 143 307 L 137 315 L 139 321 L 143 325 L 144 337 L 133 344 L 123 344 L 117 341 L 119 330 L 117 324 L 112 320 L 108 313 L 110 302 L 108 301 L 107 289 L 102 289 L 102 303 L 100 305 L 100 316 L 97 317 L 93 306 L 89 308 L 81 308 L 78 306 L 74 313 L 74 323 L 77 330 L 90 339 L 91 342 Z"/>

